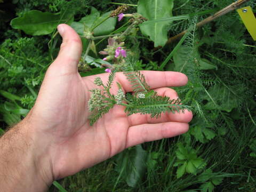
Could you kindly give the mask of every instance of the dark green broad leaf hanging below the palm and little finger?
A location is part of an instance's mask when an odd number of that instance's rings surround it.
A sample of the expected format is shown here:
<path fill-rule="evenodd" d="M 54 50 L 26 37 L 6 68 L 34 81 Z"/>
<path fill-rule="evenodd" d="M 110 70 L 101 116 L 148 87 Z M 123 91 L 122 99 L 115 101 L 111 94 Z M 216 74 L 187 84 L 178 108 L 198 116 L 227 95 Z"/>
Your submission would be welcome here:
<path fill-rule="evenodd" d="M 128 186 L 135 187 L 141 182 L 146 171 L 147 156 L 147 151 L 143 150 L 141 145 L 117 155 L 116 171 L 122 174 Z"/>

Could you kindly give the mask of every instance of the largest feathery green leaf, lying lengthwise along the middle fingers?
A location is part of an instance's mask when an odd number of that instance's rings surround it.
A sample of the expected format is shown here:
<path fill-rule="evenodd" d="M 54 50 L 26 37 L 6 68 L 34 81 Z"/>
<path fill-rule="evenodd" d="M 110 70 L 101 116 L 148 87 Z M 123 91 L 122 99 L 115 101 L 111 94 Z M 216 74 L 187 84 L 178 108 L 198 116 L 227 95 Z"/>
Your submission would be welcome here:
<path fill-rule="evenodd" d="M 172 100 L 169 97 L 162 97 L 154 92 L 150 97 L 137 98 L 129 97 L 132 105 L 126 107 L 125 112 L 132 114 L 150 114 L 151 118 L 159 118 L 163 112 L 180 112 L 189 109 L 188 106 L 181 105 L 180 99 Z"/>

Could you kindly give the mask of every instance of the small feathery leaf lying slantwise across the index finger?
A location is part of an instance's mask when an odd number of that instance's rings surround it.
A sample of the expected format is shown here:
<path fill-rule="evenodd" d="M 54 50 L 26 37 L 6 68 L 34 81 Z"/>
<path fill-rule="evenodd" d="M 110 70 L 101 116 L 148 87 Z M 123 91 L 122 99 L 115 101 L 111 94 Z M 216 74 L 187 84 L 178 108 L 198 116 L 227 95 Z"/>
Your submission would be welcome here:
<path fill-rule="evenodd" d="M 150 90 L 149 85 L 146 83 L 145 76 L 140 71 L 126 71 L 124 75 L 133 87 L 133 92 L 148 92 Z"/>

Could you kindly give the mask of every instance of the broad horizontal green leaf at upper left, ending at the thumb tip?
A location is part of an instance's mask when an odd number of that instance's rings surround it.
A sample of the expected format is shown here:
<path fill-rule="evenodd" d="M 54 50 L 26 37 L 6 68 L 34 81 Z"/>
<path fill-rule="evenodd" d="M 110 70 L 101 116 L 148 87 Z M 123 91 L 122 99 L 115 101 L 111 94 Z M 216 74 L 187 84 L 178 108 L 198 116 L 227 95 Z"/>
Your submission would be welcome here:
<path fill-rule="evenodd" d="M 11 21 L 14 29 L 21 29 L 28 35 L 47 35 L 53 32 L 60 23 L 73 22 L 73 15 L 61 13 L 41 12 L 31 10 L 23 17 L 15 18 Z"/>

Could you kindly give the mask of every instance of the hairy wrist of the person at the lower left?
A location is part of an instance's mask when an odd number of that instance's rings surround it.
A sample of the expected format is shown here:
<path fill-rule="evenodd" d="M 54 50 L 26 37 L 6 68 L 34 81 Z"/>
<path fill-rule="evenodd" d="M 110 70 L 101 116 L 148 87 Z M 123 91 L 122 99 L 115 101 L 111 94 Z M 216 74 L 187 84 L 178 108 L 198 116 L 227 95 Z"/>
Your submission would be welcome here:
<path fill-rule="evenodd" d="M 25 118 L 0 139 L 4 191 L 45 191 L 53 181 L 47 148 L 30 125 Z"/>

